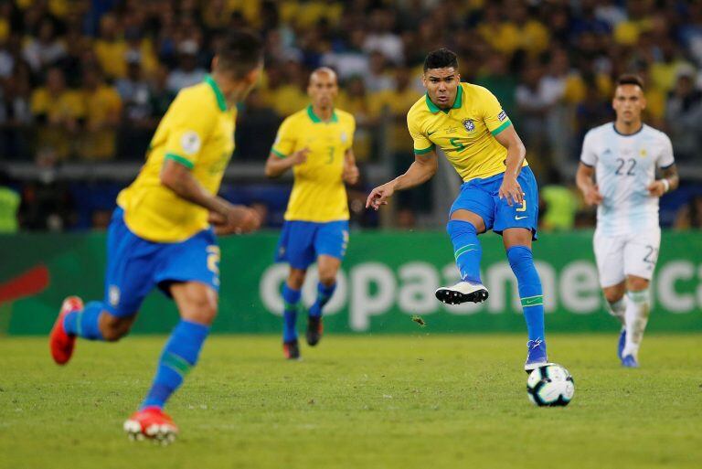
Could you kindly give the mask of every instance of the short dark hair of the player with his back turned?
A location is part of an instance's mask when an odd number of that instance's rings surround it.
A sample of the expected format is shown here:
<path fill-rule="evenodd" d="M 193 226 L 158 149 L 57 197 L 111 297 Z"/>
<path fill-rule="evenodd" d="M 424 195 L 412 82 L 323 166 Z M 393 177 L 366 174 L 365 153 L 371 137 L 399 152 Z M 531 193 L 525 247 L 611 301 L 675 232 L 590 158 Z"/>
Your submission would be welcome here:
<path fill-rule="evenodd" d="M 217 68 L 231 71 L 238 79 L 255 69 L 263 59 L 261 37 L 248 29 L 235 29 L 227 34 L 216 50 Z"/>

